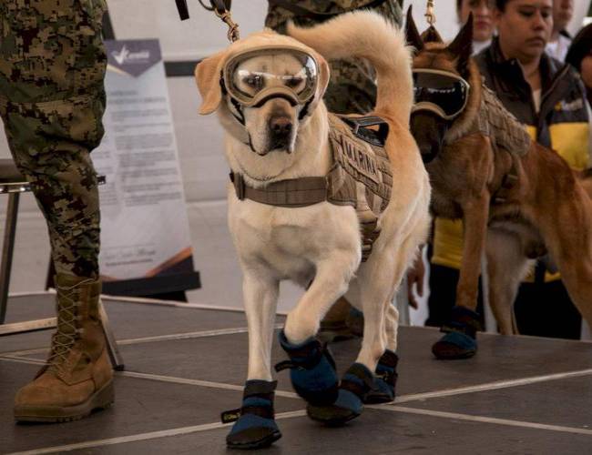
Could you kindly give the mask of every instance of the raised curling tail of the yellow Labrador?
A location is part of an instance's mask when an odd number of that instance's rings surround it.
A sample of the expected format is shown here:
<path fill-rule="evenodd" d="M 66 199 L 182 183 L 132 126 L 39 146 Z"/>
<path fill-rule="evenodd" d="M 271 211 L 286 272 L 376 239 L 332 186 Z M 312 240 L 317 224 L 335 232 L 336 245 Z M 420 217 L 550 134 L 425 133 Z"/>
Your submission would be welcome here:
<path fill-rule="evenodd" d="M 327 60 L 357 57 L 369 61 L 378 79 L 374 110 L 409 124 L 413 106 L 412 57 L 402 30 L 377 13 L 358 11 L 311 28 L 289 23 L 288 34 Z"/>

